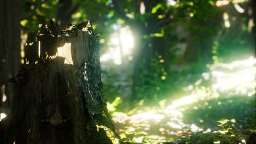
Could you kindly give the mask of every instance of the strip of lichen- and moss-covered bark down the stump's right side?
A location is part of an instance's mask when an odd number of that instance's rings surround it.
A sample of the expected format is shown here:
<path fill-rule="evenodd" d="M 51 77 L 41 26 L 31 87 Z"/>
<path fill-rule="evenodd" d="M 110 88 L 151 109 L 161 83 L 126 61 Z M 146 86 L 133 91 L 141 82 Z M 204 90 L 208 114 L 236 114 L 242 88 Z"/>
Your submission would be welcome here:
<path fill-rule="evenodd" d="M 91 118 L 91 122 L 87 126 L 88 134 L 94 134 L 94 137 L 98 139 L 99 137 L 95 135 L 96 128 L 97 132 L 103 130 L 110 142 L 121 143 L 108 116 L 106 99 L 102 93 L 98 36 L 91 38 L 90 41 L 92 46 L 89 49 L 89 61 L 85 62 L 78 70 L 78 83 Z"/>

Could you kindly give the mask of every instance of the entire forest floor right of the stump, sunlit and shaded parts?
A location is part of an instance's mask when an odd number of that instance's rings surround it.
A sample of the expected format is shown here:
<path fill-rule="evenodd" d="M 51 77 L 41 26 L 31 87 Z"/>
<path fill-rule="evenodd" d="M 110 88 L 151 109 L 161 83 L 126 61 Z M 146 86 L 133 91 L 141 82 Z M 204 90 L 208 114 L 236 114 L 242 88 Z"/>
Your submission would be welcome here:
<path fill-rule="evenodd" d="M 113 121 L 130 143 L 246 143 L 255 131 L 256 59 L 219 64 L 188 86 L 190 94 L 117 110 Z M 203 81 L 211 81 L 205 85 Z M 247 142 L 248 143 L 248 142 Z"/>

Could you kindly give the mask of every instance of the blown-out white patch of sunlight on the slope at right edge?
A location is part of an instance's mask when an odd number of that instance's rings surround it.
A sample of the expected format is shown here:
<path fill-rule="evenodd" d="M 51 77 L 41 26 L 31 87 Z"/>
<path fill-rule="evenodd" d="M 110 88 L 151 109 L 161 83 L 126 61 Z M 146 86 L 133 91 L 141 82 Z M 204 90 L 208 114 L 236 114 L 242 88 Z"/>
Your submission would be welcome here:
<path fill-rule="evenodd" d="M 256 86 L 255 82 L 255 71 L 256 68 L 253 66 L 256 64 L 256 59 L 249 57 L 243 61 L 235 61 L 230 64 L 217 64 L 218 67 L 223 67 L 226 69 L 237 69 L 232 73 L 225 73 L 224 71 L 212 72 L 213 77 L 216 77 L 217 82 L 212 85 L 213 89 L 219 89 L 220 91 L 226 91 L 229 89 L 235 89 L 235 93 L 244 93 L 247 94 L 248 88 L 253 88 Z M 251 92 L 249 95 L 252 95 Z"/>

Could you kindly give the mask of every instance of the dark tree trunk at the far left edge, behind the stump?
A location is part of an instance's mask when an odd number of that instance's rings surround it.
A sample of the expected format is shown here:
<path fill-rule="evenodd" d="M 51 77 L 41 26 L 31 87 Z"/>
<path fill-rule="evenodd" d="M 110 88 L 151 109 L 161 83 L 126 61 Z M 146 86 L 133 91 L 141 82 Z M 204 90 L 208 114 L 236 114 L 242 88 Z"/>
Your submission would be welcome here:
<path fill-rule="evenodd" d="M 18 0 L 0 5 L 0 113 L 8 113 L 11 107 L 15 89 L 8 80 L 20 67 L 20 5 Z"/>

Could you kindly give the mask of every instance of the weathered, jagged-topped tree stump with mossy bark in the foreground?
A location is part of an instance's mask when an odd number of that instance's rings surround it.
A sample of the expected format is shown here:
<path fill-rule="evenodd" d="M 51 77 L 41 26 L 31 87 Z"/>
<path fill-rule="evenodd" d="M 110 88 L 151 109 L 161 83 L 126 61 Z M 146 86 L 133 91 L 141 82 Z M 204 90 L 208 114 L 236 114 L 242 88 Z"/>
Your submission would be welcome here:
<path fill-rule="evenodd" d="M 102 94 L 98 36 L 91 22 L 42 25 L 28 34 L 18 89 L 0 123 L 0 143 L 121 143 Z"/>

